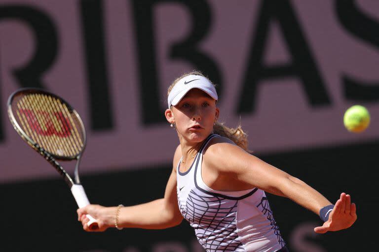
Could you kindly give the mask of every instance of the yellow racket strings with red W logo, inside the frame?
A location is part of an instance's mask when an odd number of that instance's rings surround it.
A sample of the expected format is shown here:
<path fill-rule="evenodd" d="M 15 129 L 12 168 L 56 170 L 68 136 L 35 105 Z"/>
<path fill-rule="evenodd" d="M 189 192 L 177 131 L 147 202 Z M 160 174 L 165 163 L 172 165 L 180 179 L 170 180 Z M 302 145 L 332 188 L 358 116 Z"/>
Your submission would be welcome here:
<path fill-rule="evenodd" d="M 75 157 L 84 147 L 81 123 L 59 98 L 27 94 L 14 99 L 12 110 L 24 132 L 46 151 Z"/>

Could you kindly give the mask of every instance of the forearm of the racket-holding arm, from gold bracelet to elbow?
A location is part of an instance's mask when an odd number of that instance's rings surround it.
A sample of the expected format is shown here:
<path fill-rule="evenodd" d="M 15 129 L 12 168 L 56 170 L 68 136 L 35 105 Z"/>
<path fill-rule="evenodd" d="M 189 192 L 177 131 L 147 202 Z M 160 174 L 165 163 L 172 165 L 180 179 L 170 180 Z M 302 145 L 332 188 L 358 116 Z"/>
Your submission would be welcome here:
<path fill-rule="evenodd" d="M 113 210 L 115 213 L 115 209 Z M 145 204 L 121 207 L 117 225 L 144 229 L 164 229 L 180 224 L 181 216 L 165 207 L 163 198 Z"/>

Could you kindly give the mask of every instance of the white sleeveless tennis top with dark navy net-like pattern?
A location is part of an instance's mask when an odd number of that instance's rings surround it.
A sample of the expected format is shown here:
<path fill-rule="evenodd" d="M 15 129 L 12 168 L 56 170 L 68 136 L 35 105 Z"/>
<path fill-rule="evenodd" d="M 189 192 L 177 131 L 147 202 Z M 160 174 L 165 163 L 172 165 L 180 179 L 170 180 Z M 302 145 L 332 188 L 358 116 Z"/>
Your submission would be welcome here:
<path fill-rule="evenodd" d="M 188 171 L 179 171 L 182 158 L 178 163 L 178 205 L 184 219 L 207 252 L 279 251 L 285 243 L 263 190 L 219 191 L 203 182 L 203 150 L 213 137 L 220 136 L 208 136 Z"/>

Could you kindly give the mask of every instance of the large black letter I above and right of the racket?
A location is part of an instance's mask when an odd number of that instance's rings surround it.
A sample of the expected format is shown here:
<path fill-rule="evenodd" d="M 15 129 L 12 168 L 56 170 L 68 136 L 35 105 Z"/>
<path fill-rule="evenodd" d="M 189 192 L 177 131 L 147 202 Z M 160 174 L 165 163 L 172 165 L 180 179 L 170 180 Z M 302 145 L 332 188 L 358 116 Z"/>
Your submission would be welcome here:
<path fill-rule="evenodd" d="M 91 113 L 91 129 L 113 128 L 104 37 L 102 0 L 81 0 L 85 57 Z"/>

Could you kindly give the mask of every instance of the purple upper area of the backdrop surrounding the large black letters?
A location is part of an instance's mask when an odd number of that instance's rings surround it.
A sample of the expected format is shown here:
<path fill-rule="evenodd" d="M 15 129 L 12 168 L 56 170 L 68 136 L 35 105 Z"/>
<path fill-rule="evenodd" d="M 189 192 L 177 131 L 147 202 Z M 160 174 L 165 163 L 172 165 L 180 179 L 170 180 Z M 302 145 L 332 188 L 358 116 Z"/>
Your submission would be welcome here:
<path fill-rule="evenodd" d="M 89 80 L 84 59 L 82 15 L 79 1 L 1 0 L 1 7 L 19 4 L 45 13 L 55 24 L 58 51 L 55 60 L 43 72 L 44 88 L 59 94 L 73 104 L 88 129 L 88 144 L 81 169 L 84 173 L 107 169 L 125 169 L 152 163 L 167 163 L 178 144 L 176 133 L 168 124 L 144 126 L 141 120 L 137 39 L 132 3 L 126 0 L 104 1 L 103 24 L 108 88 L 114 126 L 109 130 L 91 130 L 88 103 Z M 345 29 L 338 18 L 333 1 L 291 1 L 290 6 L 302 31 L 305 46 L 323 80 L 329 102 L 310 104 L 299 74 L 264 78 L 259 81 L 256 108 L 251 113 L 238 113 L 242 84 L 256 38 L 258 17 L 263 4 L 259 1 L 208 1 L 212 20 L 210 30 L 197 44 L 218 65 L 223 77 L 220 100 L 221 120 L 236 126 L 240 120 L 249 132 L 250 149 L 258 153 L 316 146 L 365 142 L 379 137 L 379 102 L 348 99 L 343 92 L 342 76 L 362 82 L 379 80 L 378 47 Z M 356 9 L 375 21 L 379 3 L 357 1 Z M 138 14 L 137 14 L 138 15 Z M 170 82 L 195 66 L 185 60 L 169 57 L 171 45 L 185 39 L 193 20 L 185 4 L 159 3 L 153 8 L 156 65 L 159 72 L 160 109 L 165 108 L 165 90 Z M 279 20 L 279 21 L 278 21 Z M 261 65 L 290 65 L 294 54 L 279 26 L 280 19 L 271 18 L 266 27 Z M 378 23 L 377 23 L 378 24 Z M 265 29 L 265 28 L 264 28 Z M 26 22 L 2 19 L 0 23 L 1 123 L 3 140 L 0 159 L 3 169 L 0 181 L 14 181 L 55 176 L 44 160 L 18 139 L 8 123 L 5 103 L 8 95 L 20 87 L 14 69 L 27 64 L 35 54 L 36 38 Z M 289 35 L 287 35 L 289 36 Z M 297 40 L 298 38 L 295 38 Z M 207 74 L 207 72 L 205 72 Z M 34 84 L 31 83 L 31 86 Z M 362 134 L 347 132 L 342 124 L 343 112 L 360 103 L 372 114 L 369 129 Z M 96 113 L 96 112 L 95 112 Z M 107 148 L 104 148 L 107 146 Z M 23 158 L 18 158 L 20 157 Z M 30 165 L 33 168 L 30 169 Z"/>

